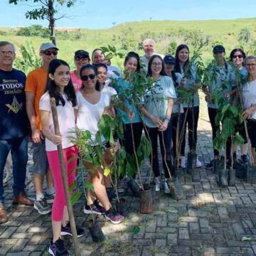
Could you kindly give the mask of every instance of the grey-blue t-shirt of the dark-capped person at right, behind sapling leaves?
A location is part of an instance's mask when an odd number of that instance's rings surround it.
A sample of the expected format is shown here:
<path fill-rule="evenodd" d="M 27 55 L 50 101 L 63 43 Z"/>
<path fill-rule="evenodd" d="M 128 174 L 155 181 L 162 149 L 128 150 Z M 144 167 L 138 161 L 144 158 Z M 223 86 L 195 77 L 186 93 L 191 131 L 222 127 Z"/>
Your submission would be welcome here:
<path fill-rule="evenodd" d="M 225 97 L 225 94 L 231 92 L 233 87 L 236 87 L 235 82 L 235 69 L 228 63 L 223 66 L 213 65 L 209 71 L 210 85 L 208 85 L 208 90 L 210 95 L 213 95 L 213 91 L 220 89 L 223 84 L 226 85 L 226 89 L 221 92 L 220 97 Z M 213 109 L 218 109 L 218 105 L 213 102 L 207 103 L 207 106 Z"/>

